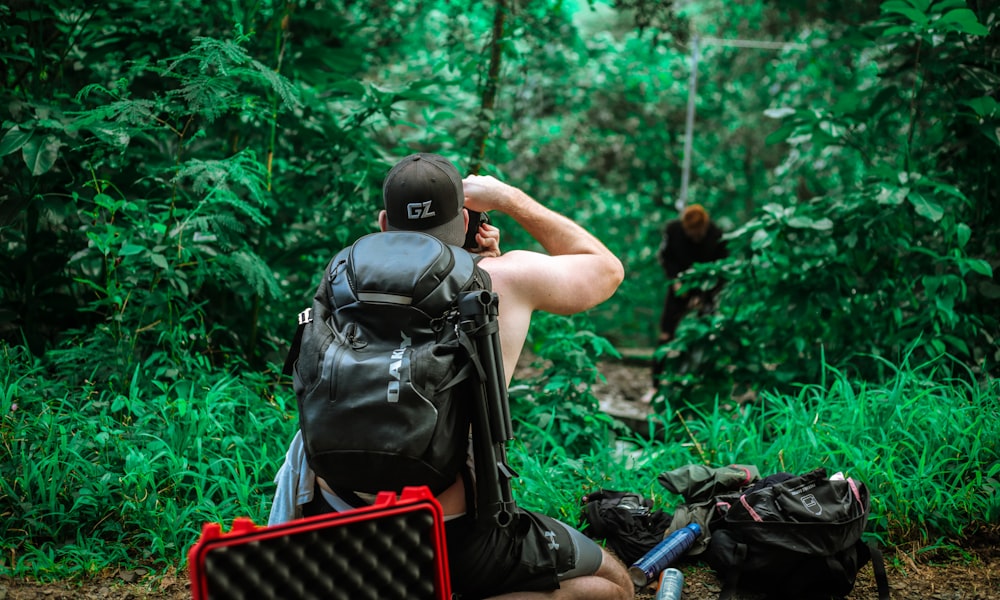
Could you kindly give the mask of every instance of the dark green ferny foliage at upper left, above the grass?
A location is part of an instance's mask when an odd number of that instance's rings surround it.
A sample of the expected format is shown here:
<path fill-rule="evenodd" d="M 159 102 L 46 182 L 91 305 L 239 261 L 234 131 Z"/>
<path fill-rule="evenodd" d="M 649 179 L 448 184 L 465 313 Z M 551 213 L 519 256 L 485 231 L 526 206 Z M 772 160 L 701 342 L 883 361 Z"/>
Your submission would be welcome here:
<path fill-rule="evenodd" d="M 374 226 L 373 191 L 391 159 L 372 128 L 429 97 L 429 82 L 383 87 L 317 68 L 293 25 L 336 25 L 323 35 L 344 42 L 371 25 L 346 9 L 265 4 L 57 3 L 13 14 L 6 43 L 58 41 L 34 61 L 0 57 L 14 67 L 0 136 L 0 257 L 13 266 L 3 339 L 23 335 L 37 354 L 61 343 L 103 349 L 81 356 L 84 373 L 127 371 L 188 351 L 160 342 L 202 322 L 212 337 L 196 351 L 255 366 L 277 358 L 313 273 Z M 323 64 L 343 56 L 331 50 Z"/>

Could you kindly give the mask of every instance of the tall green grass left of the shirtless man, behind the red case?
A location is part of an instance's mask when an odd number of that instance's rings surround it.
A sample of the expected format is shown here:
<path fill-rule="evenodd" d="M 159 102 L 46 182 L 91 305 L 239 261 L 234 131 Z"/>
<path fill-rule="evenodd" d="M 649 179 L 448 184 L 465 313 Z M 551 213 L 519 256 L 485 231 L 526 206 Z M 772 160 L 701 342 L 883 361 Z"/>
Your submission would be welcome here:
<path fill-rule="evenodd" d="M 274 382 L 190 365 L 176 383 L 130 373 L 125 393 L 53 382 L 2 347 L 3 568 L 38 578 L 137 561 L 178 564 L 205 522 L 264 522 L 294 433 Z"/>

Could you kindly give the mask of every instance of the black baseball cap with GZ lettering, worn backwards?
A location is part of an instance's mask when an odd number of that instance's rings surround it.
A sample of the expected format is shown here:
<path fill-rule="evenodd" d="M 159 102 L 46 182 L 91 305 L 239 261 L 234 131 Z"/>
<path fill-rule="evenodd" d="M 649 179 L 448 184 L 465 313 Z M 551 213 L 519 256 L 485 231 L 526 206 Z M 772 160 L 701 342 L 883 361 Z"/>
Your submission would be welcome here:
<path fill-rule="evenodd" d="M 465 242 L 462 176 L 438 154 L 411 154 L 396 163 L 382 185 L 389 230 L 422 231 L 446 244 Z"/>

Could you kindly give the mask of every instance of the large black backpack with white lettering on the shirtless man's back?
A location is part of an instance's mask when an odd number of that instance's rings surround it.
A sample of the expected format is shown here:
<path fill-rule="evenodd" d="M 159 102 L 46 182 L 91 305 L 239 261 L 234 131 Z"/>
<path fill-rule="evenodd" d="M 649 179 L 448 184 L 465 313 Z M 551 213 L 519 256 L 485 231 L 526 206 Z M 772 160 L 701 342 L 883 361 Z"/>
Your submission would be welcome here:
<path fill-rule="evenodd" d="M 472 254 L 419 232 L 370 234 L 330 261 L 286 371 L 309 465 L 344 498 L 455 482 L 483 373 L 458 305 L 490 288 Z"/>

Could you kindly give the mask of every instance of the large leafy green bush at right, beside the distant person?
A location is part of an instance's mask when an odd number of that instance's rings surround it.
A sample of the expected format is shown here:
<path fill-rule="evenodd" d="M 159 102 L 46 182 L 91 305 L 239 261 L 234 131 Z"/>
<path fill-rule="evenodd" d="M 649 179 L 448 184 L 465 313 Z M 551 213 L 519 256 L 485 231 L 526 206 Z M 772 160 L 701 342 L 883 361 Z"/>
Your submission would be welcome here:
<path fill-rule="evenodd" d="M 883 6 L 871 42 L 850 40 L 870 50 L 862 71 L 877 69 L 874 80 L 830 107 L 771 112 L 782 126 L 770 138 L 794 149 L 782 169 L 822 191 L 765 205 L 729 235 L 733 259 L 684 279 L 726 287 L 719 314 L 682 326 L 670 345 L 668 397 L 787 390 L 817 381 L 821 354 L 879 381 L 871 356 L 895 363 L 914 340 L 923 358 L 1000 368 L 994 196 L 956 162 L 969 148 L 959 132 L 970 103 L 992 115 L 971 65 L 979 42 L 966 35 L 982 26 L 954 2 L 900 25 L 916 10 L 903 4 Z"/>

